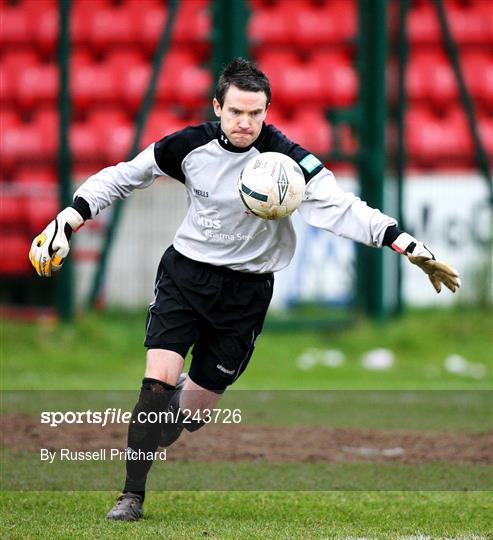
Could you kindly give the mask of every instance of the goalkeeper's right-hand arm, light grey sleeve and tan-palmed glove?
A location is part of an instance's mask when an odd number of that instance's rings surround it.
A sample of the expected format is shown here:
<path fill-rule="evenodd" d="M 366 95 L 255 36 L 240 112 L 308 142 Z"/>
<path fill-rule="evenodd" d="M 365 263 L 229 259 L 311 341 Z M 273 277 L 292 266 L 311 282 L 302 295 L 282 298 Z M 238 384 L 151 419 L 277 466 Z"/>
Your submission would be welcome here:
<path fill-rule="evenodd" d="M 299 212 L 310 225 L 369 246 L 389 246 L 425 272 L 437 293 L 442 283 L 452 292 L 461 286 L 457 270 L 437 261 L 422 242 L 401 231 L 395 219 L 343 191 L 327 169 L 308 182 L 305 197 Z"/>

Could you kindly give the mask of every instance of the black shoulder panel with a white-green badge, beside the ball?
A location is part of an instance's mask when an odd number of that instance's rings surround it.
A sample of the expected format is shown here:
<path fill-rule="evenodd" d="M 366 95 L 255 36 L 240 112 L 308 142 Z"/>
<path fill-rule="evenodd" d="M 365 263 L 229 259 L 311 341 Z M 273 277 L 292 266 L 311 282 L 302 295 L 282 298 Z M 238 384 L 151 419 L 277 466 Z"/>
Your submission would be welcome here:
<path fill-rule="evenodd" d="M 280 152 L 286 154 L 301 167 L 305 182 L 308 183 L 323 169 L 323 163 L 311 152 L 291 141 L 272 124 L 264 125 L 254 146 L 259 152 Z"/>

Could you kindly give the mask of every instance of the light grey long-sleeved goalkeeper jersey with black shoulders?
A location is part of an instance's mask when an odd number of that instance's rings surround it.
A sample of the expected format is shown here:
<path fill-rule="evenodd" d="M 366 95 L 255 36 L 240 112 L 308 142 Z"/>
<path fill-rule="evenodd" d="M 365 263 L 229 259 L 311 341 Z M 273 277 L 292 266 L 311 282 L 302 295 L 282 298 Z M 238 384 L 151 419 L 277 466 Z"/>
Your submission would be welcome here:
<path fill-rule="evenodd" d="M 94 217 L 115 199 L 150 186 L 159 176 L 170 176 L 185 185 L 189 203 L 173 242 L 177 251 L 241 272 L 276 272 L 289 264 L 296 247 L 291 219 L 267 221 L 251 215 L 237 187 L 248 160 L 269 151 L 300 164 L 307 188 L 298 211 L 305 221 L 367 245 L 382 245 L 387 227 L 396 221 L 342 191 L 315 156 L 266 124 L 247 148 L 233 146 L 219 122 L 187 127 L 151 144 L 133 160 L 91 176 L 74 197 L 85 199 Z"/>

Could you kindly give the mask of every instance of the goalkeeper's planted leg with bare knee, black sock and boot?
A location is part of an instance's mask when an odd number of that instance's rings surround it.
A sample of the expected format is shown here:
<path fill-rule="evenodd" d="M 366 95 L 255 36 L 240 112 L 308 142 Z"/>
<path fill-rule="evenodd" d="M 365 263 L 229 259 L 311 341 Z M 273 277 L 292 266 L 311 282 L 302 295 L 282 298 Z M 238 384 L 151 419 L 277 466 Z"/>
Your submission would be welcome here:
<path fill-rule="evenodd" d="M 140 519 L 143 515 L 145 485 L 153 460 L 141 454 L 148 456 L 148 452 L 154 453 L 157 450 L 161 424 L 152 416 L 167 410 L 183 363 L 183 357 L 174 351 L 147 351 L 147 366 L 139 401 L 128 428 L 125 486 L 108 513 L 109 519 L 130 521 Z M 151 418 L 148 418 L 149 415 Z"/>

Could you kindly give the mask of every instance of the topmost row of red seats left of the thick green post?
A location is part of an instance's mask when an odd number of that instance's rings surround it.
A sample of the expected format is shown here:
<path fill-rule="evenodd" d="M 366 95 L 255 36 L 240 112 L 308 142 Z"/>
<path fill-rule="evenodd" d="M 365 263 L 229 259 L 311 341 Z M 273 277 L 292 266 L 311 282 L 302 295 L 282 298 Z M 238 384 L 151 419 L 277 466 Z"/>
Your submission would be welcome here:
<path fill-rule="evenodd" d="M 162 34 L 167 7 L 155 2 L 129 2 L 121 6 L 91 1 L 78 2 L 71 10 L 70 34 L 75 45 L 95 50 L 139 45 L 153 51 Z M 31 2 L 2 9 L 0 43 L 7 47 L 32 45 L 54 51 L 59 33 L 56 3 Z M 206 43 L 210 14 L 202 0 L 180 2 L 172 40 L 175 43 Z"/>

